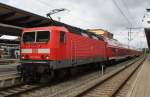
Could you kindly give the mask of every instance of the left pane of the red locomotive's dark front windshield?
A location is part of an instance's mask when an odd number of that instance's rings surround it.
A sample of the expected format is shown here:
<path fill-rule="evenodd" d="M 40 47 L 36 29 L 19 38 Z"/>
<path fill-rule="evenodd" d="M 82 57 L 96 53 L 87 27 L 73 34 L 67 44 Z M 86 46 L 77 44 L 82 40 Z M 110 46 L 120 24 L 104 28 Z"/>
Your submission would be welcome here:
<path fill-rule="evenodd" d="M 35 32 L 26 32 L 23 34 L 23 42 L 35 42 Z"/>

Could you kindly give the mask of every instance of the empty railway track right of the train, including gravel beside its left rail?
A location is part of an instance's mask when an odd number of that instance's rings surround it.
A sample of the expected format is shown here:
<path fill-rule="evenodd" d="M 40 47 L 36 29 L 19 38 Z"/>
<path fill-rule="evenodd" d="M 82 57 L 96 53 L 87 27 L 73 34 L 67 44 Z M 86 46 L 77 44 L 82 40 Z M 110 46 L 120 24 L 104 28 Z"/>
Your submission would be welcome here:
<path fill-rule="evenodd" d="M 68 88 L 46 97 L 115 97 L 118 90 L 134 74 L 145 58 L 125 65 L 101 78 L 84 83 L 76 88 Z"/>

